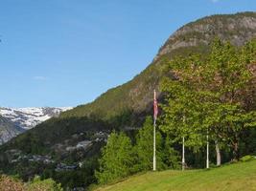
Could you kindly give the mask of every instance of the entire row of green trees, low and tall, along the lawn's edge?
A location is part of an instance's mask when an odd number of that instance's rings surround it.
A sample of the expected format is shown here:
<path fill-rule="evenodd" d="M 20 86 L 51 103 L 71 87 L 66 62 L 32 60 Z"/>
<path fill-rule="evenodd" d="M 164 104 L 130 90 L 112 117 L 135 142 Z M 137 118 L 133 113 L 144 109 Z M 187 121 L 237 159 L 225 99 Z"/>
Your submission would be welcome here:
<path fill-rule="evenodd" d="M 256 40 L 237 48 L 215 39 L 207 55 L 175 57 L 163 70 L 157 170 L 181 168 L 182 139 L 189 167 L 205 166 L 207 143 L 216 165 L 256 154 Z M 105 183 L 151 170 L 152 152 L 147 117 L 135 140 L 125 133 L 109 136 L 95 176 Z"/>

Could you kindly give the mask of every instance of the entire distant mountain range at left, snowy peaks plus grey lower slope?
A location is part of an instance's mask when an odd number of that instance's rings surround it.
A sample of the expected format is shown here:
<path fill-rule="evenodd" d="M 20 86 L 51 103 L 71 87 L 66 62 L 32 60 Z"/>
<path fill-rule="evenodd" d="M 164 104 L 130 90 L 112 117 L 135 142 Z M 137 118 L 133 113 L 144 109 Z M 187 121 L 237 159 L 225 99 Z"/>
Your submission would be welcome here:
<path fill-rule="evenodd" d="M 6 108 L 0 107 L 0 144 L 10 140 L 18 134 L 32 129 L 37 124 L 51 118 L 58 117 L 61 112 L 71 107 L 51 108 Z"/>

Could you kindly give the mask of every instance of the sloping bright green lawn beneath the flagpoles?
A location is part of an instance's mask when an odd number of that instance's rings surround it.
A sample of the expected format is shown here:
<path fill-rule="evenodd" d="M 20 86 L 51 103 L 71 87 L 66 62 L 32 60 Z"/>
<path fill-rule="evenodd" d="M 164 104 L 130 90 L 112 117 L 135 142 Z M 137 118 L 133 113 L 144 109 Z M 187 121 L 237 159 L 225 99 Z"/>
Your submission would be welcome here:
<path fill-rule="evenodd" d="M 256 159 L 210 170 L 168 170 L 136 175 L 94 191 L 232 191 L 256 190 Z"/>

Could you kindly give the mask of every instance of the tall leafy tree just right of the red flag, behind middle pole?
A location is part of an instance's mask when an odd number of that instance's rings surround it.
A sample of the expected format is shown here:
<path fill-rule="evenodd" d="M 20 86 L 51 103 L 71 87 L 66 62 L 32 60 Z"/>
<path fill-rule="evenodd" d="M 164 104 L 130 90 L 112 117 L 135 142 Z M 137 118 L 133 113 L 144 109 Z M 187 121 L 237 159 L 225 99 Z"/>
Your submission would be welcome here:
<path fill-rule="evenodd" d="M 177 57 L 167 66 L 167 70 L 172 71 L 172 77 L 164 78 L 161 84 L 166 94 L 165 103 L 161 105 L 163 115 L 160 128 L 172 137 L 173 143 L 181 143 L 184 138 L 185 146 L 193 148 L 195 152 L 205 144 L 206 135 L 206 130 L 200 125 L 202 107 L 194 82 L 194 76 L 197 76 L 195 68 L 200 65 L 198 55 Z"/>

